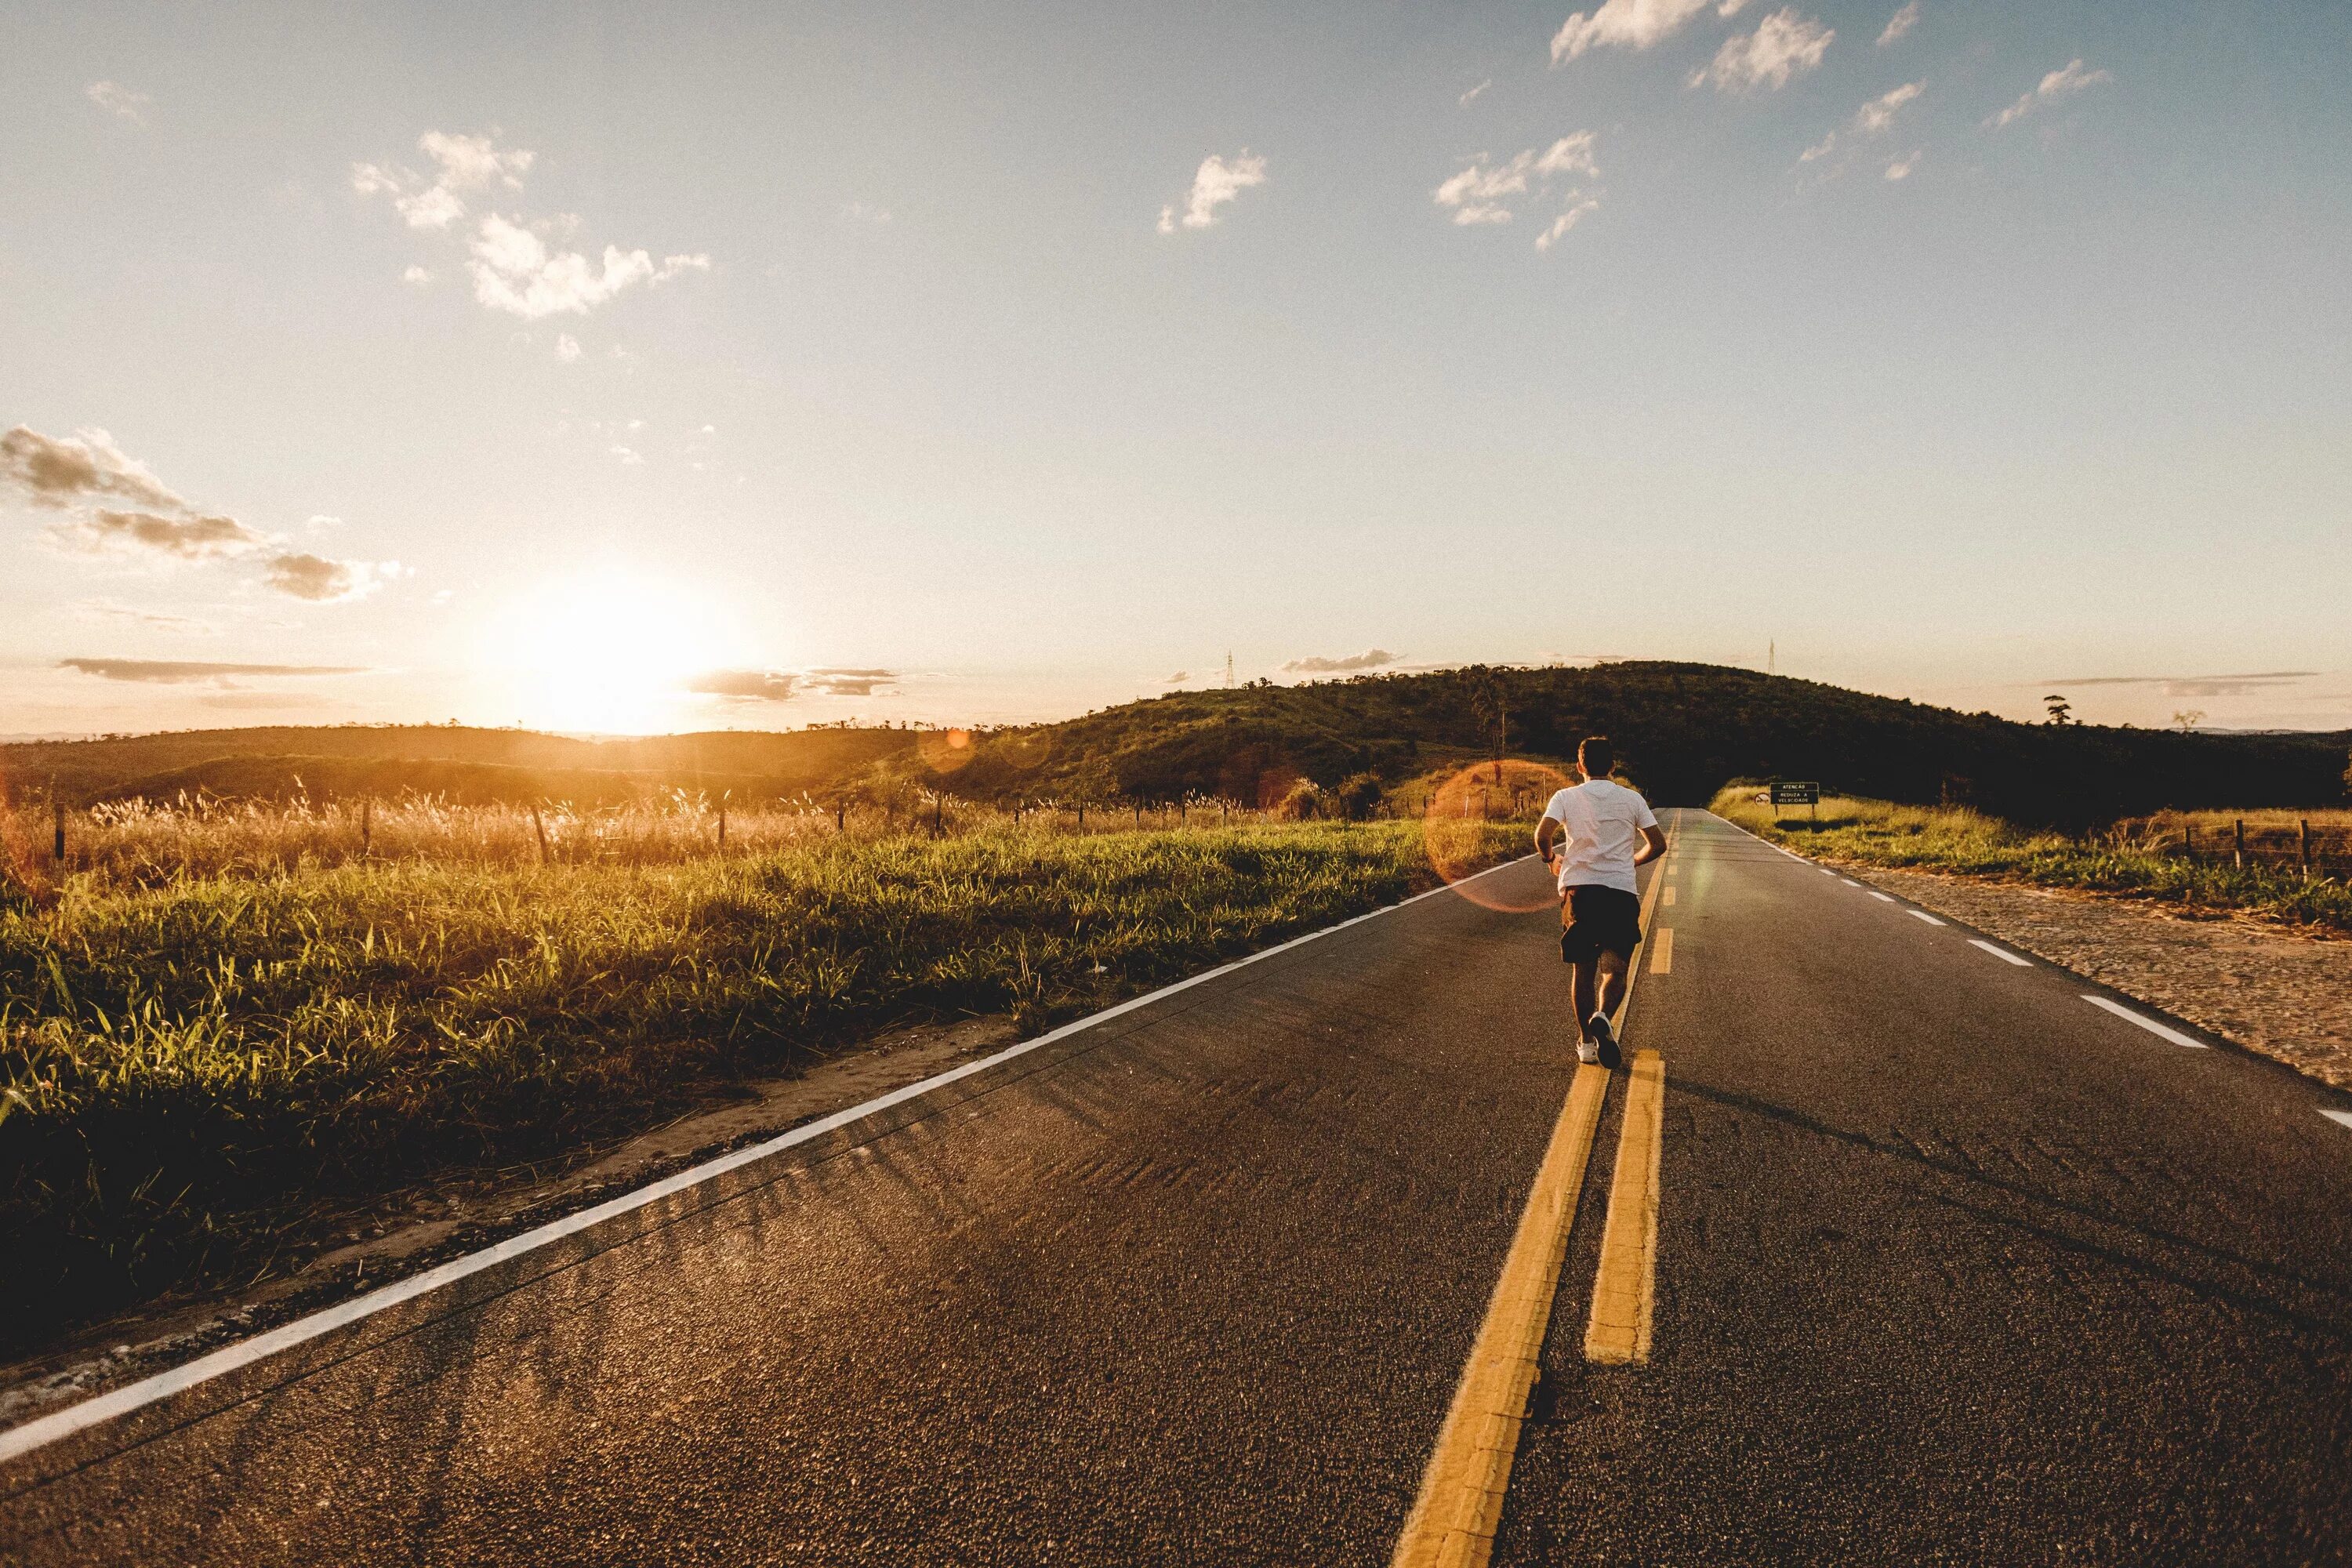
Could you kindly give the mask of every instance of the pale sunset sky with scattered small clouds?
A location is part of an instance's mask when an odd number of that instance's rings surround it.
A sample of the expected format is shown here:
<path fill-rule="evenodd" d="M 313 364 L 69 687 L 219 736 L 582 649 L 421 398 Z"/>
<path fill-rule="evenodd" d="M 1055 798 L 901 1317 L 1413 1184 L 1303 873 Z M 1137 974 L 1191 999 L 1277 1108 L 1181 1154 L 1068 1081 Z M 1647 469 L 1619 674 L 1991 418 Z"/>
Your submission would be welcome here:
<path fill-rule="evenodd" d="M 2352 726 L 2345 5 L 7 31 L 0 733 L 1228 658 Z"/>

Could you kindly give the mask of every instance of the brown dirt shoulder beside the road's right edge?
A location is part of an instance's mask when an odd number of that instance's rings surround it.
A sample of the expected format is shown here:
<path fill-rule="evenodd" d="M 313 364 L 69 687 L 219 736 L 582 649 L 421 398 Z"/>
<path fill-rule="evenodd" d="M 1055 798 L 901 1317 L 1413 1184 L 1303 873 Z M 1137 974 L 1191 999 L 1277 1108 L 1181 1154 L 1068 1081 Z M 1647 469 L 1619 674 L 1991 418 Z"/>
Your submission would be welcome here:
<path fill-rule="evenodd" d="M 1856 863 L 1842 870 L 2321 1084 L 2352 1088 L 2352 940 L 2023 882 Z"/>

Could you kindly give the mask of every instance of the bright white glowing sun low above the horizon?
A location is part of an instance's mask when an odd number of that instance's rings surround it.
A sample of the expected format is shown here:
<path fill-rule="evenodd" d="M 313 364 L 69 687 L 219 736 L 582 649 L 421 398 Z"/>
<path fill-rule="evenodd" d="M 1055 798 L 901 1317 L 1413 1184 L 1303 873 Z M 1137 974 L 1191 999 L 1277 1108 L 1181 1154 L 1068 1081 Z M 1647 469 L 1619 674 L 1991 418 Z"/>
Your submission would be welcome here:
<path fill-rule="evenodd" d="M 522 595 L 489 642 L 517 717 L 604 733 L 675 729 L 687 679 L 724 658 L 708 597 L 619 569 Z"/>

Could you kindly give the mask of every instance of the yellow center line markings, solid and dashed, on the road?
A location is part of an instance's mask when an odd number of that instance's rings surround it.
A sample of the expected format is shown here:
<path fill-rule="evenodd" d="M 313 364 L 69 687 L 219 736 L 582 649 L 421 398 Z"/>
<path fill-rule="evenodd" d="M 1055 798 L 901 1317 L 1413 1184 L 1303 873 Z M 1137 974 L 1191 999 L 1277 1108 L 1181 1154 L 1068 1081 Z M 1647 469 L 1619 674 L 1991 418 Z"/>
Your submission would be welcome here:
<path fill-rule="evenodd" d="M 1679 830 L 1668 839 L 1679 839 Z M 1651 877 L 1642 929 L 1653 943 L 1672 943 L 1651 917 L 1665 889 L 1668 865 Z M 1656 950 L 1653 950 L 1656 952 Z M 1670 952 L 1670 947 L 1668 947 Z M 1658 973 L 1665 961 L 1653 961 Z M 1611 1025 L 1623 1032 L 1639 964 L 1628 964 L 1625 999 Z M 1552 1126 L 1552 1143 L 1536 1168 L 1536 1185 L 1519 1213 L 1519 1229 L 1503 1258 L 1503 1276 L 1486 1302 L 1486 1321 L 1470 1345 L 1470 1361 L 1454 1387 L 1437 1448 L 1421 1474 L 1421 1493 L 1397 1537 L 1395 1568 L 1482 1566 L 1494 1554 L 1494 1530 L 1503 1519 L 1510 1465 L 1519 1453 L 1526 1399 L 1536 1387 L 1543 1331 L 1552 1321 L 1559 1269 L 1569 1253 L 1569 1225 L 1592 1159 L 1609 1070 L 1581 1065 L 1569 1103 Z M 1585 1328 L 1588 1361 L 1649 1361 L 1651 1302 L 1658 1279 L 1658 1150 L 1665 1126 L 1665 1058 L 1639 1051 L 1625 1093 L 1625 1128 L 1618 1135 L 1616 1175 L 1609 1187 L 1609 1222 L 1602 1229 L 1602 1267 L 1592 1286 L 1592 1321 Z"/>

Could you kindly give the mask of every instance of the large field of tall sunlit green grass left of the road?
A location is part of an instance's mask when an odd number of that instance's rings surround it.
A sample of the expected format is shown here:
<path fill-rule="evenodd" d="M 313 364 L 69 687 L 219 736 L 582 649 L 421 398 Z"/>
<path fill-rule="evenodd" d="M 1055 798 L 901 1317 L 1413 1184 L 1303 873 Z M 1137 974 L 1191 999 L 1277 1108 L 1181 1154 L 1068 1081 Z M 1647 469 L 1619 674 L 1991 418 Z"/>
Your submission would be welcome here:
<path fill-rule="evenodd" d="M 1524 849 L 1451 825 L 1458 863 Z M 0 1352 L 877 1030 L 1101 1006 L 1430 886 L 1418 823 L 301 865 L 0 907 Z"/>

